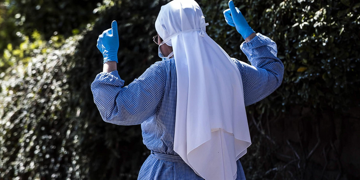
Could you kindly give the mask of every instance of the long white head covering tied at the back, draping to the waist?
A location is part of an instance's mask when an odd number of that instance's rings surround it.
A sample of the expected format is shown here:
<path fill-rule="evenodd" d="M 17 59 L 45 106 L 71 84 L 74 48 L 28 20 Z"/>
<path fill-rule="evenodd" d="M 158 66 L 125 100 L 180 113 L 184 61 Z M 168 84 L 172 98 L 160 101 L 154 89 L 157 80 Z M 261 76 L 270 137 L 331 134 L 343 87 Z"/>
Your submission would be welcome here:
<path fill-rule="evenodd" d="M 155 27 L 172 46 L 177 75 L 174 151 L 206 180 L 236 179 L 251 145 L 239 69 L 205 32 L 194 0 L 161 7 Z"/>

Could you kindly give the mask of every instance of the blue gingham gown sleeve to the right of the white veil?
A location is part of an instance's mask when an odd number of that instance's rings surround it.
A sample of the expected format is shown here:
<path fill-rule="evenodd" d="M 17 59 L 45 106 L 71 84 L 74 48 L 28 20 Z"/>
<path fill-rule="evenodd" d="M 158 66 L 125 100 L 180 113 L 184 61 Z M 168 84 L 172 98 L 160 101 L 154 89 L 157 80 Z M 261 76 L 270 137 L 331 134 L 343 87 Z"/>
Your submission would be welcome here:
<path fill-rule="evenodd" d="M 273 93 L 280 85 L 284 75 L 284 64 L 276 57 L 276 43 L 260 33 L 243 42 L 240 49 L 251 62 L 247 64 L 232 58 L 240 71 L 245 106 L 264 99 Z"/>

